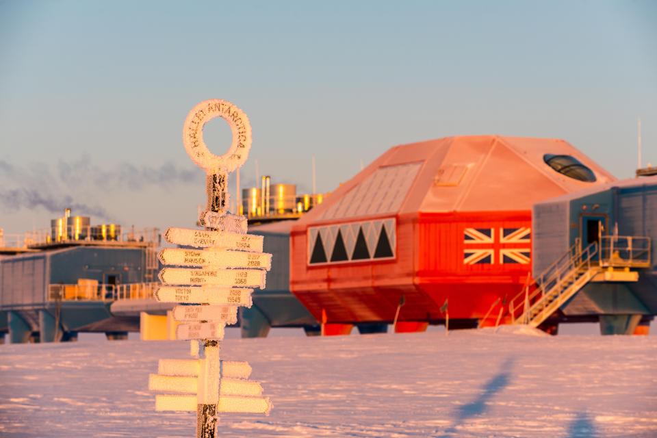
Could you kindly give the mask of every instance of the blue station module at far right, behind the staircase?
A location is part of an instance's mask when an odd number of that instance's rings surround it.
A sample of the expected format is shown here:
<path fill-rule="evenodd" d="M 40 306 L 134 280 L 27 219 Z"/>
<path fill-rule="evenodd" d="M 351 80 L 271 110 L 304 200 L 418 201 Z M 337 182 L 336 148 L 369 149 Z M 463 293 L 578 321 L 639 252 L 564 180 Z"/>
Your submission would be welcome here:
<path fill-rule="evenodd" d="M 657 313 L 657 177 L 616 181 L 537 203 L 533 221 L 534 278 L 570 248 L 595 246 L 592 263 L 623 267 L 620 281 L 610 274 L 604 281 L 593 279 L 556 318 L 600 322 L 602 334 L 647 333 Z"/>

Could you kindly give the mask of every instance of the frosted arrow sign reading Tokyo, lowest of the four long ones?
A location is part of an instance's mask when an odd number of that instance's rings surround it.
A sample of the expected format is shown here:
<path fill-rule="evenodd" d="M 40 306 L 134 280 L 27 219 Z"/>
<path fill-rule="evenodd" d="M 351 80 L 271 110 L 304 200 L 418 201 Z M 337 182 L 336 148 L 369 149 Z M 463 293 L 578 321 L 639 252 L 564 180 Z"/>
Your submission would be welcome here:
<path fill-rule="evenodd" d="M 253 289 L 230 289 L 215 286 L 162 286 L 155 291 L 161 302 L 196 302 L 251 307 Z"/>

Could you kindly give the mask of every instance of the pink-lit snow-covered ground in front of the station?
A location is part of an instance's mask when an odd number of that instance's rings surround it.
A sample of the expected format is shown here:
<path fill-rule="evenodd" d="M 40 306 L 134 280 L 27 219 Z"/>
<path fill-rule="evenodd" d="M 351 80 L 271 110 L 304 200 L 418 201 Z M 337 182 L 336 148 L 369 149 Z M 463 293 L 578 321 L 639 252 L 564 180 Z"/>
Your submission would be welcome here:
<path fill-rule="evenodd" d="M 227 414 L 220 437 L 657 437 L 657 337 L 506 329 L 227 339 L 270 417 Z M 2 437 L 193 437 L 155 412 L 148 374 L 188 342 L 0 346 Z"/>

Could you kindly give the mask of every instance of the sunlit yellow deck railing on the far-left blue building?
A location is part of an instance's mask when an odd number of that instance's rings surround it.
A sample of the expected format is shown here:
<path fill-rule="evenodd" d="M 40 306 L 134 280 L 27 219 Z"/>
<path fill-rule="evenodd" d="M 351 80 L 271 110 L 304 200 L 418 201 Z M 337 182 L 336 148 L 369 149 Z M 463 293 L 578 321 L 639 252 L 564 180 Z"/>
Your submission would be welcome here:
<path fill-rule="evenodd" d="M 160 283 L 129 283 L 125 285 L 74 284 L 49 285 L 49 301 L 107 301 L 152 298 Z"/>

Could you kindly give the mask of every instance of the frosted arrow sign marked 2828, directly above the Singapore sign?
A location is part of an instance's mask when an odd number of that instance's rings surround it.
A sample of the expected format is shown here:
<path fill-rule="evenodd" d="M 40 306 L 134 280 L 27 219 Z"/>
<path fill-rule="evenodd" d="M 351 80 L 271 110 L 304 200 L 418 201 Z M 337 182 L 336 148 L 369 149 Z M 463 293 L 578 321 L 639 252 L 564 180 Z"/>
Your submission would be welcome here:
<path fill-rule="evenodd" d="M 270 270 L 272 255 L 222 249 L 164 248 L 159 253 L 163 265 L 211 266 L 212 268 L 253 268 Z"/>

